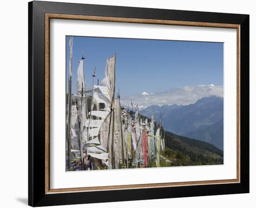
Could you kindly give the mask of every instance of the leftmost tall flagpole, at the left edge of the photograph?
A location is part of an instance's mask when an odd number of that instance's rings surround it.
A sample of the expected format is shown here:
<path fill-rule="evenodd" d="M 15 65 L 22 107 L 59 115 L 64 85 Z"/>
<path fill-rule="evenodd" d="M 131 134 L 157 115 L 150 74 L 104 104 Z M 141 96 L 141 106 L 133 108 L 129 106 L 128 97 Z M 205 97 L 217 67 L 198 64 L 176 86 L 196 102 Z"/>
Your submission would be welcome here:
<path fill-rule="evenodd" d="M 69 42 L 69 76 L 68 76 L 68 170 L 71 170 L 71 110 L 72 110 L 72 48 L 73 37 L 70 37 Z"/>

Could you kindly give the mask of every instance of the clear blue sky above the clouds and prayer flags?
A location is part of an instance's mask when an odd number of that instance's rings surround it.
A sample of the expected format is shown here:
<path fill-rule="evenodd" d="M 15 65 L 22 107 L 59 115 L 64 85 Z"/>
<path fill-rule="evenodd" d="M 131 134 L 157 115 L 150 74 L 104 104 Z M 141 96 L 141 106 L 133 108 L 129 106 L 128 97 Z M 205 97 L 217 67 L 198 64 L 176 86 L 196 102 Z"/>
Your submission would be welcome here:
<path fill-rule="evenodd" d="M 121 96 L 139 96 L 144 91 L 154 94 L 185 86 L 223 85 L 223 43 L 73 37 L 73 92 L 82 51 L 87 88 L 91 88 L 94 67 L 96 82 L 101 82 L 106 59 L 115 52 L 116 89 L 120 88 Z"/>

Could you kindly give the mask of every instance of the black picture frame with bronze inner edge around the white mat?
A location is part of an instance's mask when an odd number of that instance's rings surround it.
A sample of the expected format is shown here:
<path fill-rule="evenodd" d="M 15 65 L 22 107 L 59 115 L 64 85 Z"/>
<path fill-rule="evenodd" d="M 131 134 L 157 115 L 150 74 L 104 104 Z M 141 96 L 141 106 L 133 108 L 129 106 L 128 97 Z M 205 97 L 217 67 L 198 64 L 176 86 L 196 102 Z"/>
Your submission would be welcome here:
<path fill-rule="evenodd" d="M 29 2 L 28 11 L 28 204 L 30 206 L 249 193 L 249 15 L 43 1 Z M 236 28 L 236 179 L 50 189 L 50 19 Z"/>

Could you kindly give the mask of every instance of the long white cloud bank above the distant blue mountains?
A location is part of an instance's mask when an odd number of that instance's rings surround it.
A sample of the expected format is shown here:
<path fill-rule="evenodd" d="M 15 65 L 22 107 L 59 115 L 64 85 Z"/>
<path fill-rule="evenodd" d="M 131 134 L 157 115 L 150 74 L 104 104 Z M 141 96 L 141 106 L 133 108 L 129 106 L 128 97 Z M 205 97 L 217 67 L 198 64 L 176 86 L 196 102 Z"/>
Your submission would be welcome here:
<path fill-rule="evenodd" d="M 121 105 L 128 106 L 131 100 L 135 105 L 138 105 L 141 109 L 151 105 L 188 105 L 195 103 L 202 97 L 209 97 L 212 95 L 223 97 L 223 86 L 216 86 L 214 84 L 209 85 L 197 85 L 186 86 L 182 88 L 171 88 L 170 90 L 146 93 L 143 92 L 139 96 L 121 97 Z"/>

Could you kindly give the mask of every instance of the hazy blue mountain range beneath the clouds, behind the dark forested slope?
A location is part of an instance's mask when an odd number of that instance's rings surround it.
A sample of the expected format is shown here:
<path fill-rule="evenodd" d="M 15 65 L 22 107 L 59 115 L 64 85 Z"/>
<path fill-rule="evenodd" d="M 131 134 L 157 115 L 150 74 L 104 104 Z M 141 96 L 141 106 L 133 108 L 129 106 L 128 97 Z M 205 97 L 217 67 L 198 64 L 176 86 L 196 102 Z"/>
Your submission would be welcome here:
<path fill-rule="evenodd" d="M 165 131 L 198 139 L 223 150 L 223 98 L 203 97 L 187 106 L 163 105 L 149 106 L 140 113 L 160 121 Z"/>

